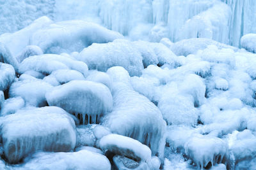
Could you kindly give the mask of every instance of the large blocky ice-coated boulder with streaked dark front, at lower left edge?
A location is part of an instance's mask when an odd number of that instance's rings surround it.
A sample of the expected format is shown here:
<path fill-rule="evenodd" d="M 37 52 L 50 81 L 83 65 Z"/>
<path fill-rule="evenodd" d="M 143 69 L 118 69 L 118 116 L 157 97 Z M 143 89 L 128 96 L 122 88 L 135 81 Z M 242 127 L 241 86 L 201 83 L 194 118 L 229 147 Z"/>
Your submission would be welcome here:
<path fill-rule="evenodd" d="M 74 120 L 57 107 L 31 108 L 1 118 L 4 155 L 17 163 L 38 150 L 68 152 L 76 146 Z"/>

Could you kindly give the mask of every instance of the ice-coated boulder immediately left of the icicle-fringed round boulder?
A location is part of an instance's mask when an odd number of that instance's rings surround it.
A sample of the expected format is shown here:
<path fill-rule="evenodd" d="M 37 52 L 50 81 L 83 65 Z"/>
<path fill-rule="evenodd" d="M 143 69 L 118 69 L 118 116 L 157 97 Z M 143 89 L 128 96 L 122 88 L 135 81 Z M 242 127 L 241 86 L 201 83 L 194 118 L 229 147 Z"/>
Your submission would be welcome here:
<path fill-rule="evenodd" d="M 15 81 L 9 89 L 9 97 L 22 97 L 26 105 L 47 106 L 45 94 L 52 89 L 52 85 L 40 79 Z"/>

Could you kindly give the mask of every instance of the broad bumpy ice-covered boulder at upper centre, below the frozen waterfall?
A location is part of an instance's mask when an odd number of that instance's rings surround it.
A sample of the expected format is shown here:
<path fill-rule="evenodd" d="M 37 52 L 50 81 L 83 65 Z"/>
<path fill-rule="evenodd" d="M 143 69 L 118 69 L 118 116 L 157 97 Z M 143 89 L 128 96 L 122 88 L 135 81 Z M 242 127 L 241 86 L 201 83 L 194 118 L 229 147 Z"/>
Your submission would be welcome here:
<path fill-rule="evenodd" d="M 143 70 L 141 53 L 130 41 L 116 39 L 112 43 L 97 44 L 84 48 L 77 60 L 85 62 L 89 69 L 106 72 L 110 67 L 122 66 L 131 76 L 138 76 Z"/>

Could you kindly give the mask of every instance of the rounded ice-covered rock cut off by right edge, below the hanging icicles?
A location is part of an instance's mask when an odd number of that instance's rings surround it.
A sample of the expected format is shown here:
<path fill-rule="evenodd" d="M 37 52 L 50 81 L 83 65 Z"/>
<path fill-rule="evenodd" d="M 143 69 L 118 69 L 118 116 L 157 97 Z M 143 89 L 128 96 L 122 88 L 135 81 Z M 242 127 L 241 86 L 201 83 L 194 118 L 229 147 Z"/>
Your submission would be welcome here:
<path fill-rule="evenodd" d="M 256 53 L 256 34 L 246 34 L 241 38 L 241 46 L 249 52 Z"/>

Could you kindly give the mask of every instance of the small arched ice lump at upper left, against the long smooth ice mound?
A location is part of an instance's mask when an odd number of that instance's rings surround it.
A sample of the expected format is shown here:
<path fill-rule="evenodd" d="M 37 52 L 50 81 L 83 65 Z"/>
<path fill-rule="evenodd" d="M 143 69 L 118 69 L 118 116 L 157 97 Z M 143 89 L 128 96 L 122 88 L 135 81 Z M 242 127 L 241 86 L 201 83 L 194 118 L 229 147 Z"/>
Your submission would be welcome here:
<path fill-rule="evenodd" d="M 28 45 L 26 46 L 20 55 L 18 55 L 16 58 L 19 62 L 22 62 L 22 60 L 28 58 L 29 56 L 33 55 L 42 55 L 43 51 L 39 46 L 36 45 Z"/>

